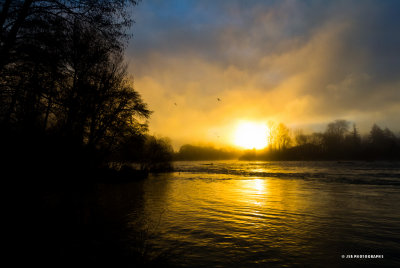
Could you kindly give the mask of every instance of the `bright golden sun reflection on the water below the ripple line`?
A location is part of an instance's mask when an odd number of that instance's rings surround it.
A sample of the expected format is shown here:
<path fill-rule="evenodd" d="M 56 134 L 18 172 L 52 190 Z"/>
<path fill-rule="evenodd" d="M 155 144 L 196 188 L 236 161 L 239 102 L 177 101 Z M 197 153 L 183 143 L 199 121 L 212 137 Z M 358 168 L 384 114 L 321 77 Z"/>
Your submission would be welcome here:
<path fill-rule="evenodd" d="M 313 225 L 300 215 L 310 204 L 298 190 L 299 181 L 208 173 L 170 176 L 150 178 L 145 190 L 146 213 L 158 223 L 161 247 L 168 247 L 170 241 L 193 244 L 196 249 L 213 244 L 214 249 L 233 255 L 238 245 L 242 249 L 252 245 L 257 254 L 265 253 L 265 245 L 293 252 L 309 250 L 307 239 Z M 163 191 L 155 191 L 161 189 L 158 184 Z M 269 256 L 260 258 L 266 261 Z"/>

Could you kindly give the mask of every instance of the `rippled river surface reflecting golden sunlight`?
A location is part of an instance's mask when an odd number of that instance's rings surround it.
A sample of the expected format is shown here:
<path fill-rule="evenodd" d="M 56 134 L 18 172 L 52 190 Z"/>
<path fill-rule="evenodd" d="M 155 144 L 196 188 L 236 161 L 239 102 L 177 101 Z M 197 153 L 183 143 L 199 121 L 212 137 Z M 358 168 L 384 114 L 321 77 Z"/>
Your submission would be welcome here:
<path fill-rule="evenodd" d="M 174 166 L 98 189 L 128 233 L 142 230 L 146 248 L 172 266 L 400 265 L 399 163 Z"/>

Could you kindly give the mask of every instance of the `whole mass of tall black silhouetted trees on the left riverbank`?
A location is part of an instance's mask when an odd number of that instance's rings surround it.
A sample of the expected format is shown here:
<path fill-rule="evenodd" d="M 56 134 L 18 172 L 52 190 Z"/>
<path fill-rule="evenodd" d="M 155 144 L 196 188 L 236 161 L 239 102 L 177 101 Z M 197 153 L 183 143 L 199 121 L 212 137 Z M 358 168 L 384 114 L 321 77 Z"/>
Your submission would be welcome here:
<path fill-rule="evenodd" d="M 127 7 L 136 3 L 0 4 L 5 168 L 53 176 L 107 168 L 117 160 L 139 161 L 143 169 L 168 166 L 172 149 L 147 135 L 151 111 L 123 62 L 132 22 Z"/>

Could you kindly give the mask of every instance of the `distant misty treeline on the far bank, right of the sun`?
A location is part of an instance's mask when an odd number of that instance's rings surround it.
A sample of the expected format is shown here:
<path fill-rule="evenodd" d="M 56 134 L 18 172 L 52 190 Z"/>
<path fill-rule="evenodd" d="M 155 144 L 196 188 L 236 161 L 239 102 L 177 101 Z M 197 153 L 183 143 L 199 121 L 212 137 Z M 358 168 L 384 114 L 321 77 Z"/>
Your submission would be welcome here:
<path fill-rule="evenodd" d="M 361 135 L 355 124 L 336 120 L 325 132 L 290 135 L 283 124 L 271 130 L 271 143 L 263 151 L 247 151 L 244 160 L 400 160 L 400 137 L 374 124 Z"/>

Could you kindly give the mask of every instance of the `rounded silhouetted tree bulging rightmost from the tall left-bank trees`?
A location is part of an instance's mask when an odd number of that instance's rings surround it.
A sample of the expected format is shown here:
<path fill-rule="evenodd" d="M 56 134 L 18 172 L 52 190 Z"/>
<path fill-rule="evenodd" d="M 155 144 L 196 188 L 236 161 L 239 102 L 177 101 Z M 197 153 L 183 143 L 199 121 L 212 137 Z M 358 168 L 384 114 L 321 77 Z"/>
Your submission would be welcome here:
<path fill-rule="evenodd" d="M 74 28 L 57 118 L 68 138 L 112 150 L 126 135 L 146 130 L 138 118 L 150 112 L 127 78 L 121 53 L 103 41 L 91 28 Z"/>

